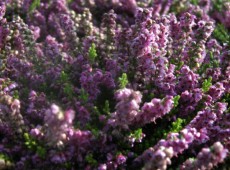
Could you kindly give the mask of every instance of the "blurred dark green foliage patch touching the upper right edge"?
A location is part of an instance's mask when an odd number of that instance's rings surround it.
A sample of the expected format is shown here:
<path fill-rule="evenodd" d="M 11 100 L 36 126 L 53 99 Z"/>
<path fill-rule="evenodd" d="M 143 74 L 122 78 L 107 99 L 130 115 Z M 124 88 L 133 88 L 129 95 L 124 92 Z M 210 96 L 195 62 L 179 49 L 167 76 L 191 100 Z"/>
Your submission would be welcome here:
<path fill-rule="evenodd" d="M 217 24 L 213 31 L 213 36 L 221 43 L 227 43 L 230 45 L 230 34 L 223 24 Z"/>

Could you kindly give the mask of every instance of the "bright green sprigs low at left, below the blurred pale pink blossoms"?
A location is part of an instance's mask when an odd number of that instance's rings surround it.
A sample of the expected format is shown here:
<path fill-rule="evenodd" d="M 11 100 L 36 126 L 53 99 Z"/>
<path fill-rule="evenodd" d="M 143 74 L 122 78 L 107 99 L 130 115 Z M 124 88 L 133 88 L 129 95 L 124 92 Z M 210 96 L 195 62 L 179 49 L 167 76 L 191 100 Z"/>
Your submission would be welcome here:
<path fill-rule="evenodd" d="M 45 158 L 46 150 L 40 146 L 28 133 L 24 133 L 25 145 L 28 149 L 35 151 L 38 156 Z"/>

